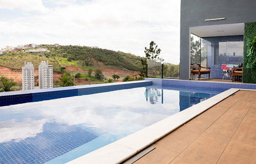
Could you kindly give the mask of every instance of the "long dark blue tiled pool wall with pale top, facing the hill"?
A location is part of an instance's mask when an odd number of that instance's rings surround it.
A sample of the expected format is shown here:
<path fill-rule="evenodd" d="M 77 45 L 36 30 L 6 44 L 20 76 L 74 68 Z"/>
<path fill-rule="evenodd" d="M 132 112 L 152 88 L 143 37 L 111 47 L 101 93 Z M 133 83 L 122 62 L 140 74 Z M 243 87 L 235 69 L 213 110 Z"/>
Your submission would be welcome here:
<path fill-rule="evenodd" d="M 80 96 L 152 85 L 151 81 L 118 82 L 93 85 L 67 86 L 47 89 L 0 92 L 0 106 L 37 102 L 63 97 Z"/>

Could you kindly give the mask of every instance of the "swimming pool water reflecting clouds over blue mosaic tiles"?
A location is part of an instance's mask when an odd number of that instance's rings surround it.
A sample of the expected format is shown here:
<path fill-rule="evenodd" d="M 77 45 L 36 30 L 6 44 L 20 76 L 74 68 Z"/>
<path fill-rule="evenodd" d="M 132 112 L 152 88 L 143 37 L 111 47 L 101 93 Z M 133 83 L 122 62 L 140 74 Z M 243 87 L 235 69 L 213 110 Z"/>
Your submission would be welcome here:
<path fill-rule="evenodd" d="M 0 163 L 66 163 L 220 92 L 146 86 L 0 107 Z"/>

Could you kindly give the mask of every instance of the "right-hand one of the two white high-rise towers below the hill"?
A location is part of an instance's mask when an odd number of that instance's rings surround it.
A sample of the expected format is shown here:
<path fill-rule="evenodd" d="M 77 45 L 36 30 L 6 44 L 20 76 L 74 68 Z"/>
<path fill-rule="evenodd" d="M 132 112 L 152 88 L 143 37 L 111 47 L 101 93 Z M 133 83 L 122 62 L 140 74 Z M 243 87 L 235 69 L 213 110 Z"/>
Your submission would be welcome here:
<path fill-rule="evenodd" d="M 53 66 L 48 65 L 47 62 L 42 61 L 39 70 L 39 87 L 42 88 L 52 88 L 53 87 Z"/>

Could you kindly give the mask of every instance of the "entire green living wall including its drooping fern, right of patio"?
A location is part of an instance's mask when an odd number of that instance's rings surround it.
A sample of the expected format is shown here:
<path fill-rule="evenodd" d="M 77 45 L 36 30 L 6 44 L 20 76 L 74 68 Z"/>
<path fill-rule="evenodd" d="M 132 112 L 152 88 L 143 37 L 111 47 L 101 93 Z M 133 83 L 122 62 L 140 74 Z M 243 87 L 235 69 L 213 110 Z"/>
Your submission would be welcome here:
<path fill-rule="evenodd" d="M 245 23 L 243 83 L 256 83 L 256 22 Z M 251 51 L 250 51 L 251 50 Z"/>

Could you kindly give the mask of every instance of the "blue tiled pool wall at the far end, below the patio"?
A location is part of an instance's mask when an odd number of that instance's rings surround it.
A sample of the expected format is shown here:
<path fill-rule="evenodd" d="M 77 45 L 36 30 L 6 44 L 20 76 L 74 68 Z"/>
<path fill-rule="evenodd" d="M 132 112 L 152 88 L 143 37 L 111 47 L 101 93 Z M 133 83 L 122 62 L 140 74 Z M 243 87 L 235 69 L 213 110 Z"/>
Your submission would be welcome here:
<path fill-rule="evenodd" d="M 200 82 L 200 81 L 182 81 L 182 80 L 171 80 L 171 79 L 150 79 L 145 78 L 147 81 L 152 81 L 153 85 L 160 85 L 161 87 L 177 86 L 177 87 L 194 87 L 202 88 L 204 90 L 215 89 L 217 90 L 228 90 L 230 88 L 239 89 L 256 89 L 256 84 L 248 83 L 232 83 L 232 82 Z"/>

